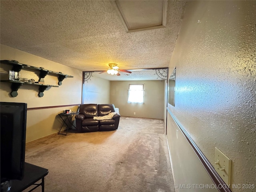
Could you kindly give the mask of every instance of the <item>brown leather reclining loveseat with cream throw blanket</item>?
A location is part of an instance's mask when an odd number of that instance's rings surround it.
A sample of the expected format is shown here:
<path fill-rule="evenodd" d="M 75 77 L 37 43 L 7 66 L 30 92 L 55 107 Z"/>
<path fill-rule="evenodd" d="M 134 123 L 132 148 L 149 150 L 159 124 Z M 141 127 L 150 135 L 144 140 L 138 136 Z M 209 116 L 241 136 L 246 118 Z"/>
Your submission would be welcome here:
<path fill-rule="evenodd" d="M 104 119 L 108 116 L 112 118 Z M 119 119 L 113 104 L 83 104 L 76 115 L 77 132 L 117 130 Z"/>

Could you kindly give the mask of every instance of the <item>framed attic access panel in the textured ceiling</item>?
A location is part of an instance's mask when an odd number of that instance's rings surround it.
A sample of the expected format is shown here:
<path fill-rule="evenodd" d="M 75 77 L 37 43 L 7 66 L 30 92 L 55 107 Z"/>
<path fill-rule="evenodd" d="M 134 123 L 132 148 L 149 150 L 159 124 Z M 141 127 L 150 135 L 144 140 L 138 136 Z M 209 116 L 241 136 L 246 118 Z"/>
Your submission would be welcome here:
<path fill-rule="evenodd" d="M 167 1 L 111 1 L 126 32 L 149 30 L 166 26 Z"/>

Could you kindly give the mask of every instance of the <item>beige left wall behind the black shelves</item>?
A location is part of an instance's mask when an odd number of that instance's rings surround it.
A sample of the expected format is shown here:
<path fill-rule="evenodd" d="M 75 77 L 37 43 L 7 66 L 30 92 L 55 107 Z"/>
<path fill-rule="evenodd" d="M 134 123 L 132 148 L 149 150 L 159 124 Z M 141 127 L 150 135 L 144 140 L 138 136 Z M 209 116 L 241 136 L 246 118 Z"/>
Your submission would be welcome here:
<path fill-rule="evenodd" d="M 74 76 L 74 78 L 66 78 L 59 87 L 47 88 L 43 97 L 38 97 L 39 86 L 22 85 L 18 90 L 17 97 L 10 96 L 9 83 L 1 82 L 0 100 L 1 102 L 24 102 L 28 104 L 28 108 L 60 106 L 80 104 L 82 98 L 82 71 L 64 66 L 62 64 L 46 60 L 44 58 L 10 48 L 1 44 L 1 60 L 17 60 L 20 63 L 28 64 L 36 67 L 44 67 L 45 69 L 62 72 Z M 4 74 L 11 70 L 11 66 L 1 64 L 1 79 Z M 22 78 L 33 78 L 38 81 L 38 72 L 30 72 L 21 70 Z M 47 75 L 45 84 L 58 85 L 58 77 Z M 68 109 L 77 110 L 77 106 L 68 107 Z M 61 126 L 58 113 L 67 107 L 58 107 L 50 109 L 28 110 L 27 113 L 27 132 L 26 142 L 36 140 L 58 132 Z"/>

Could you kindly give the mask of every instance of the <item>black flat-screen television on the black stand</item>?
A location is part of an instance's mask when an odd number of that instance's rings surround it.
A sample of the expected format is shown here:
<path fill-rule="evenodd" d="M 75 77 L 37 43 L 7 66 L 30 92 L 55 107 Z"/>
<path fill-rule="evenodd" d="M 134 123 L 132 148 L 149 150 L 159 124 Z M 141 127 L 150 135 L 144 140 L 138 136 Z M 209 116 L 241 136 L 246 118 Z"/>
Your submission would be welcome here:
<path fill-rule="evenodd" d="M 0 102 L 1 183 L 24 176 L 27 104 Z"/>

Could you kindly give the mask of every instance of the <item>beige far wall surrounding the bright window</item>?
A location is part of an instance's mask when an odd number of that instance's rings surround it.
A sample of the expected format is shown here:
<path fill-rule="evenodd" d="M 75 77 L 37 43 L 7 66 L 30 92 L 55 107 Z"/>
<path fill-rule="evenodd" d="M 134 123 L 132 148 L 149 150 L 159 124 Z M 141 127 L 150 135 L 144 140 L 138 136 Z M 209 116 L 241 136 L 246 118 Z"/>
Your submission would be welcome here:
<path fill-rule="evenodd" d="M 144 104 L 127 102 L 129 84 L 144 84 Z M 111 81 L 110 102 L 119 108 L 121 116 L 164 119 L 165 84 L 165 81 L 160 80 Z"/>

